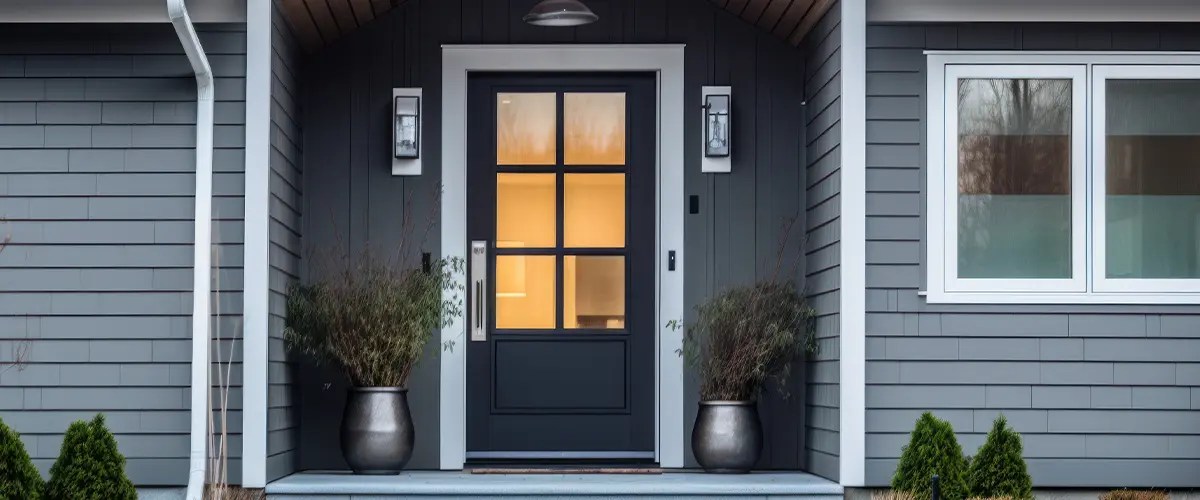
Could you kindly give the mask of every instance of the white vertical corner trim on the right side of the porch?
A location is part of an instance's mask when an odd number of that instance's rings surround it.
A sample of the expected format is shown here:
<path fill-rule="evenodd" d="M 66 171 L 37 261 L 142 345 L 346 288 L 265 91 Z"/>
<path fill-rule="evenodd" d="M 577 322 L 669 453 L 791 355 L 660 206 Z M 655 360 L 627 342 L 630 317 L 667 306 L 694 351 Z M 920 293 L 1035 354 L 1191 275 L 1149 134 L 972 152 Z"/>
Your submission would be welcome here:
<path fill-rule="evenodd" d="M 841 0 L 839 480 L 866 486 L 866 1 Z"/>

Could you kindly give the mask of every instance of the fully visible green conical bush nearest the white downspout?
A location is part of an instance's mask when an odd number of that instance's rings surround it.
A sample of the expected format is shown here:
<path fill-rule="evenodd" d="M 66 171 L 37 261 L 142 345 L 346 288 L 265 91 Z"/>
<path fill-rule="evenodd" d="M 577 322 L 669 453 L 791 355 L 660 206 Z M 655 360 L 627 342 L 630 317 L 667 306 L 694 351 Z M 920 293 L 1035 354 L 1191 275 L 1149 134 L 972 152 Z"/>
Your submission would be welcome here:
<path fill-rule="evenodd" d="M 104 416 L 76 421 L 62 438 L 59 459 L 50 466 L 47 500 L 137 500 L 125 476 L 125 456 L 104 427 Z"/>

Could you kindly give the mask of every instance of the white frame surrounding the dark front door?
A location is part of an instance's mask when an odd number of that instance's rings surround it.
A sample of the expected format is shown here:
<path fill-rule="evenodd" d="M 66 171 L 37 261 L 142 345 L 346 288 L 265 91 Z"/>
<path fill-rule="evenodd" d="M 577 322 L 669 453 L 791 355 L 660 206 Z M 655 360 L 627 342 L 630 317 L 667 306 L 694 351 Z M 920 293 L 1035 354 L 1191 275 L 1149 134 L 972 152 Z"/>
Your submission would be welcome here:
<path fill-rule="evenodd" d="M 667 327 L 683 318 L 684 46 L 443 46 L 442 47 L 442 257 L 467 258 L 467 74 L 486 71 L 653 71 L 658 74 L 655 227 L 655 456 L 664 468 L 684 457 L 683 333 Z M 698 168 L 698 165 L 697 165 Z M 668 252 L 676 253 L 667 271 Z M 467 276 L 456 279 L 466 287 Z M 464 288 L 466 289 L 466 288 Z M 451 299 L 450 293 L 446 299 Z M 467 454 L 466 320 L 442 330 L 454 348 L 440 355 L 440 468 L 462 469 Z"/>

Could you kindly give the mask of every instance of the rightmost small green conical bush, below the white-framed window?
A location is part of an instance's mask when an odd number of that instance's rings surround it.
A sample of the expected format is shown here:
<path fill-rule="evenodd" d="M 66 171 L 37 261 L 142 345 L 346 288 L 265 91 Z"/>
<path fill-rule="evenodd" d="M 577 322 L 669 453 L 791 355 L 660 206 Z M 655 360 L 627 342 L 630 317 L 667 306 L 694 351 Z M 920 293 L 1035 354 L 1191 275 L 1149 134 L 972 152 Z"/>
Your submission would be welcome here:
<path fill-rule="evenodd" d="M 1021 435 L 1008 427 L 1008 420 L 1001 415 L 967 470 L 971 496 L 1033 498 L 1033 480 L 1025 468 L 1021 450 Z"/>

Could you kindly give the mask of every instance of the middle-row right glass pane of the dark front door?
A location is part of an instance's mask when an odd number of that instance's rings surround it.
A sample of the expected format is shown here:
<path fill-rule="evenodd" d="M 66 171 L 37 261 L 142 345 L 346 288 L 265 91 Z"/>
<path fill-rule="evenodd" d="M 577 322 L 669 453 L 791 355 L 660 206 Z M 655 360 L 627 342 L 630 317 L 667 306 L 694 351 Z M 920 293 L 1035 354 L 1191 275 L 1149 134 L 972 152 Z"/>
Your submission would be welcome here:
<path fill-rule="evenodd" d="M 571 248 L 624 247 L 625 174 L 565 174 L 563 177 L 564 245 Z"/>

